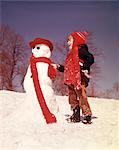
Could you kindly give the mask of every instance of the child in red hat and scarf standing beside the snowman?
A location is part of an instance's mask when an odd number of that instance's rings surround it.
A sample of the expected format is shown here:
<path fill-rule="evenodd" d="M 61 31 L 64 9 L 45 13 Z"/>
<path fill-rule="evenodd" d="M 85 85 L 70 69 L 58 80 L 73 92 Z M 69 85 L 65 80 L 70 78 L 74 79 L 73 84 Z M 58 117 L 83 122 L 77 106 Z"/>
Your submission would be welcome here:
<path fill-rule="evenodd" d="M 86 87 L 90 78 L 90 66 L 94 63 L 93 55 L 86 45 L 87 32 L 73 32 L 69 35 L 67 43 L 69 52 L 65 64 L 57 65 L 60 72 L 64 72 L 64 83 L 68 85 L 69 104 L 73 110 L 69 118 L 71 122 L 80 122 L 80 108 L 84 124 L 91 123 L 92 111 L 87 100 Z M 77 100 L 79 97 L 79 101 Z"/>

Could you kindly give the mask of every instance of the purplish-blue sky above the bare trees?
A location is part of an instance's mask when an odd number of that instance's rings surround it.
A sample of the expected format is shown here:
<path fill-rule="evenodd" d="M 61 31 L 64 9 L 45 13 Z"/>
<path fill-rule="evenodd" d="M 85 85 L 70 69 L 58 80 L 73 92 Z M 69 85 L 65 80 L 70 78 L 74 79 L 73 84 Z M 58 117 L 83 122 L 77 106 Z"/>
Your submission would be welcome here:
<path fill-rule="evenodd" d="M 4 1 L 1 8 L 1 22 L 20 33 L 27 43 L 39 36 L 63 41 L 74 30 L 92 32 L 92 42 L 104 53 L 99 88 L 111 88 L 119 80 L 117 1 Z"/>

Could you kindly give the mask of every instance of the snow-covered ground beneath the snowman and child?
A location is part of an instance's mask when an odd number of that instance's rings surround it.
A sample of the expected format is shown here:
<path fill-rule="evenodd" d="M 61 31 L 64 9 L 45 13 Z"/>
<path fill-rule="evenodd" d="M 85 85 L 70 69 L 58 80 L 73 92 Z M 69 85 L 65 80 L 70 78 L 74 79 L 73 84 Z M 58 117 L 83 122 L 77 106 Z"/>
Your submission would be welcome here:
<path fill-rule="evenodd" d="M 93 123 L 84 125 L 67 123 L 67 97 L 56 98 L 60 121 L 44 125 L 27 106 L 25 93 L 0 91 L 0 150 L 118 150 L 118 100 L 89 98 Z"/>

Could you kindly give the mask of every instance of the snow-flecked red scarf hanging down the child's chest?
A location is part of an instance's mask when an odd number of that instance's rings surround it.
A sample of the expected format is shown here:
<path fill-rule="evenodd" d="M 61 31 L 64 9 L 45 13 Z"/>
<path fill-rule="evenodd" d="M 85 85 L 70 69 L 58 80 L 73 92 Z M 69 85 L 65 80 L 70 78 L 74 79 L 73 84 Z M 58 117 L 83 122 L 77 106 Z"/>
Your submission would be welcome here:
<path fill-rule="evenodd" d="M 75 87 L 80 85 L 80 65 L 78 57 L 78 47 L 73 47 L 65 61 L 64 83 L 73 84 Z"/>

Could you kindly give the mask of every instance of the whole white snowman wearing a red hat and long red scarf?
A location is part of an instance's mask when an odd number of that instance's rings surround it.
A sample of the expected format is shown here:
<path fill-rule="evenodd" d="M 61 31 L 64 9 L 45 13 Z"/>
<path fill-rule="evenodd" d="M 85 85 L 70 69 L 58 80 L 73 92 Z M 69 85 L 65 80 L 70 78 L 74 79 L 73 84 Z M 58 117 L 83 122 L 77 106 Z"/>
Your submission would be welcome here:
<path fill-rule="evenodd" d="M 56 76 L 56 69 L 50 59 L 53 45 L 42 38 L 34 39 L 29 45 L 32 56 L 24 79 L 28 109 L 32 108 L 34 119 L 37 117 L 39 122 L 55 123 L 59 109 L 52 89 L 52 79 Z"/>

